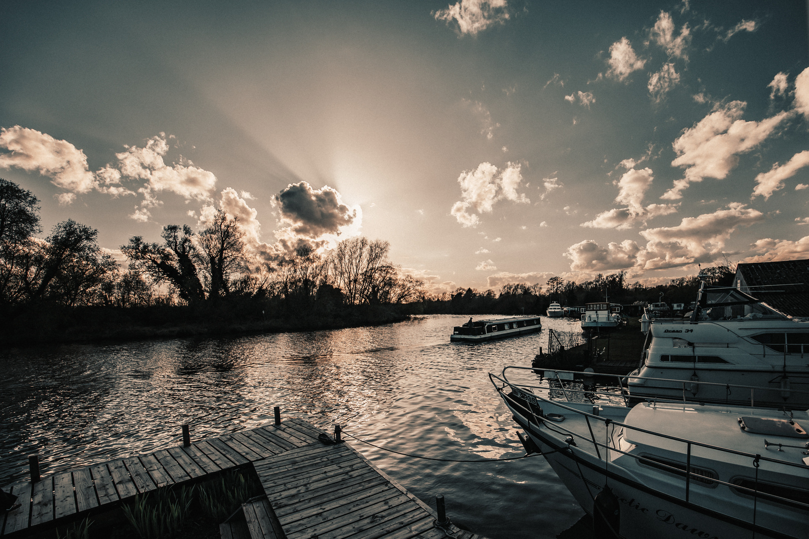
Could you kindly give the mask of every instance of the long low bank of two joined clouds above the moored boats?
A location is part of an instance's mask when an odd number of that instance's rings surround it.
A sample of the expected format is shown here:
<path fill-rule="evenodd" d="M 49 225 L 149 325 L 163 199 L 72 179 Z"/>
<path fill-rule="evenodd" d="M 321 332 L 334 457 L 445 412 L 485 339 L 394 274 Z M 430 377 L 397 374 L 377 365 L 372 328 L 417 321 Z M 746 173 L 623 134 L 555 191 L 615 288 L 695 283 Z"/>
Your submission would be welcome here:
<path fill-rule="evenodd" d="M 728 204 L 725 209 L 698 217 L 685 217 L 680 225 L 641 231 L 646 246 L 632 240 L 599 246 L 585 240 L 568 247 L 565 257 L 574 272 L 603 272 L 631 269 L 635 274 L 646 270 L 683 267 L 712 262 L 722 254 L 725 242 L 739 226 L 764 220 L 764 214 L 744 204 Z"/>

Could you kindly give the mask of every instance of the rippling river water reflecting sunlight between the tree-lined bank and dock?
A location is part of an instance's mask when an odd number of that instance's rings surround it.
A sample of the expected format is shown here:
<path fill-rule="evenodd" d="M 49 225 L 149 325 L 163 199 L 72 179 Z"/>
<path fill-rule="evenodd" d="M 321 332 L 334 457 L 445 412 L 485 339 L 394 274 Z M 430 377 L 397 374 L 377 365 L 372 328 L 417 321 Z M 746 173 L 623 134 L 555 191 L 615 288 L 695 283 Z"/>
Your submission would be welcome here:
<path fill-rule="evenodd" d="M 481 317 L 482 318 L 482 317 Z M 530 366 L 534 335 L 450 343 L 466 317 L 228 339 L 169 339 L 0 352 L 0 485 L 296 416 L 402 453 L 468 460 L 524 454 L 487 373 Z M 345 439 L 419 498 L 490 539 L 557 537 L 584 512 L 544 461 L 439 462 Z"/>

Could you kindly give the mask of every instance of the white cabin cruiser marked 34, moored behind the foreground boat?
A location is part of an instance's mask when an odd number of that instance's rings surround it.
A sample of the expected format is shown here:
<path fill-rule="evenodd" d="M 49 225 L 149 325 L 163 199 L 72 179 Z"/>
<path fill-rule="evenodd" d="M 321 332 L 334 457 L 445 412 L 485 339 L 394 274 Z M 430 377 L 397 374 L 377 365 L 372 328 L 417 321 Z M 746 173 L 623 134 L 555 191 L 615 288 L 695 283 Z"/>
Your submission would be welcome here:
<path fill-rule="evenodd" d="M 648 335 L 642 364 L 628 381 L 633 396 L 678 398 L 680 381 L 709 381 L 722 385 L 693 385 L 702 402 L 750 404 L 750 394 L 723 385 L 756 385 L 770 391 L 758 392 L 753 404 L 809 408 L 809 399 L 798 397 L 803 394 L 781 394 L 809 390 L 809 322 L 789 318 L 738 288 L 703 284 L 690 316 L 654 318 Z"/>

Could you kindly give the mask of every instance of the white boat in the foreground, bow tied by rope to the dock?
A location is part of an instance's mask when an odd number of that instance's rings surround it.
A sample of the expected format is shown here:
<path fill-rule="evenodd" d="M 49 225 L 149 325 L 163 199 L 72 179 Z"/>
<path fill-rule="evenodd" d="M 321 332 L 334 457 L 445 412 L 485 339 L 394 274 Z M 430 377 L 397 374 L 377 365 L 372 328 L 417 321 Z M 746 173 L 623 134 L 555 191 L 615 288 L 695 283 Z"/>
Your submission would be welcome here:
<path fill-rule="evenodd" d="M 527 452 L 544 453 L 593 516 L 595 537 L 807 537 L 807 411 L 688 398 L 630 408 L 620 377 L 611 392 L 592 389 L 593 373 L 544 371 L 544 383 L 536 373 L 489 377 Z"/>

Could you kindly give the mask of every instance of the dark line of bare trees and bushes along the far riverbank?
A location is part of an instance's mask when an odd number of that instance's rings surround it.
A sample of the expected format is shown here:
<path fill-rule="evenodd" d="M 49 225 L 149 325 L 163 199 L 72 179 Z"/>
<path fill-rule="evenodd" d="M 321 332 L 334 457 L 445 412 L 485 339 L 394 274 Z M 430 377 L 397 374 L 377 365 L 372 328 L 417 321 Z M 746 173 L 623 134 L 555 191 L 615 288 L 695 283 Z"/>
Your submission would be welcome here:
<path fill-rule="evenodd" d="M 697 277 L 645 287 L 616 272 L 576 283 L 553 277 L 498 292 L 434 295 L 388 258 L 390 244 L 363 237 L 332 250 L 249 249 L 239 221 L 218 210 L 195 231 L 166 225 L 160 242 L 121 246 L 125 267 L 98 231 L 68 219 L 42 232 L 36 196 L 0 179 L 0 342 L 86 342 L 262 331 L 307 331 L 399 322 L 412 314 L 544 314 L 550 301 L 688 303 Z M 708 268 L 714 282 L 732 277 Z"/>

